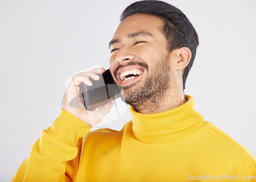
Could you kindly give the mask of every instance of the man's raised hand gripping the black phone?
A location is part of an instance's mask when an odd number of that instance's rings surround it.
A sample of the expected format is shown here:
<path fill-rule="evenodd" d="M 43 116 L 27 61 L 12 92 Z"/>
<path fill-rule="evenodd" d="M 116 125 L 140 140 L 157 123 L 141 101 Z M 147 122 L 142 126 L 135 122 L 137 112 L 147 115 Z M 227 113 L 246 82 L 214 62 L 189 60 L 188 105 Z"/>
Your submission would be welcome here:
<path fill-rule="evenodd" d="M 76 116 L 89 126 L 93 127 L 98 124 L 102 118 L 111 110 L 114 102 L 110 101 L 106 103 L 104 106 L 101 106 L 98 110 L 88 111 L 86 108 L 72 108 L 70 107 L 70 101 L 77 97 L 80 94 L 80 83 L 84 83 L 88 86 L 92 86 L 92 82 L 89 80 L 91 77 L 93 80 L 99 80 L 99 76 L 97 74 L 102 74 L 105 72 L 104 68 L 94 68 L 89 72 L 80 72 L 73 77 L 73 80 L 69 84 L 66 89 L 66 94 L 63 98 L 62 109 L 66 110 L 70 114 Z M 82 103 L 82 100 L 81 100 Z"/>

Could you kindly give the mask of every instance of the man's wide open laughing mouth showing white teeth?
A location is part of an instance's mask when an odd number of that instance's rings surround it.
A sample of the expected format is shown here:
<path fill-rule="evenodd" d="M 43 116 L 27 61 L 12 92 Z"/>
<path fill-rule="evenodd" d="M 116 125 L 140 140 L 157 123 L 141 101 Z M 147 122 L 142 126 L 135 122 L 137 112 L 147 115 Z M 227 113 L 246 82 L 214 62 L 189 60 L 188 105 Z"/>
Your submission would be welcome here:
<path fill-rule="evenodd" d="M 131 70 L 120 72 L 120 83 L 121 84 L 131 83 L 137 80 L 142 73 L 143 73 L 142 69 L 131 69 Z"/>

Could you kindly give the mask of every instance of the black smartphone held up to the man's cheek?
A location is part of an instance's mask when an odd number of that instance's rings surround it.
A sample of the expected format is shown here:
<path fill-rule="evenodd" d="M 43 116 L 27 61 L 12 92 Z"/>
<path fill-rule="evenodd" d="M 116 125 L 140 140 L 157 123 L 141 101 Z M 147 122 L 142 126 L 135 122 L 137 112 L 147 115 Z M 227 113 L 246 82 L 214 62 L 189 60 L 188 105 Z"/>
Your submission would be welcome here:
<path fill-rule="evenodd" d="M 89 78 L 93 84 L 92 86 L 87 86 L 84 83 L 79 85 L 82 93 L 77 96 L 78 98 L 71 100 L 71 107 L 78 108 L 77 103 L 81 102 L 82 100 L 83 107 L 89 111 L 92 111 L 103 106 L 109 101 L 121 97 L 121 89 L 116 84 L 109 69 L 98 75 L 100 77 L 98 81 Z"/>

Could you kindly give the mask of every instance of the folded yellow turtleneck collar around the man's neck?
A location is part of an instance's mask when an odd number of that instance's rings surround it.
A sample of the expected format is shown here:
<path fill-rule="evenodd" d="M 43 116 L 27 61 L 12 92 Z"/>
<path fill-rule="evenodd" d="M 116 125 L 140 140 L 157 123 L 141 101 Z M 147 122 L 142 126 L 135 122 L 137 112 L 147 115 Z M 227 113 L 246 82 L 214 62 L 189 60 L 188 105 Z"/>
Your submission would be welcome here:
<path fill-rule="evenodd" d="M 203 127 L 207 121 L 195 111 L 195 100 L 185 95 L 183 105 L 160 113 L 142 114 L 130 106 L 134 137 L 145 143 L 169 143 L 181 140 Z"/>

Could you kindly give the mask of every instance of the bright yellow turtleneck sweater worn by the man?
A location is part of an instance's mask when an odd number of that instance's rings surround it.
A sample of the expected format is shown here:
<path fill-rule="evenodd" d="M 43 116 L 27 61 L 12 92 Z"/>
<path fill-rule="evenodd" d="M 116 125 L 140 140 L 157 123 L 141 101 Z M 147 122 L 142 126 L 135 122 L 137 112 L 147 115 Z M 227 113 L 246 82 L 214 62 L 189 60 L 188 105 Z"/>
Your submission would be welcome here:
<path fill-rule="evenodd" d="M 130 107 L 132 121 L 120 131 L 89 132 L 61 109 L 12 181 L 256 181 L 253 154 L 185 97 L 182 106 L 156 114 Z"/>

